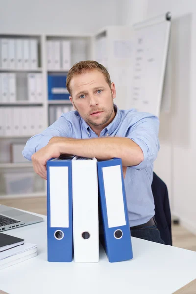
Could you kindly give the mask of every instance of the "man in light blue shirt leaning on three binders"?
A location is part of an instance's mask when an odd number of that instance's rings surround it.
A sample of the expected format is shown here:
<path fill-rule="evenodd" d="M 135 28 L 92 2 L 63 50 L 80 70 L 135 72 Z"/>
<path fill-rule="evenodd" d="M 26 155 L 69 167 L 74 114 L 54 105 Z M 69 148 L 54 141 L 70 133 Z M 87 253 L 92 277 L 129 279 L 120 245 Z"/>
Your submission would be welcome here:
<path fill-rule="evenodd" d="M 154 222 L 151 190 L 153 162 L 159 150 L 158 118 L 119 110 L 114 83 L 96 61 L 80 61 L 68 72 L 67 90 L 75 109 L 30 138 L 23 155 L 46 179 L 46 162 L 60 154 L 122 159 L 131 235 L 164 243 Z"/>

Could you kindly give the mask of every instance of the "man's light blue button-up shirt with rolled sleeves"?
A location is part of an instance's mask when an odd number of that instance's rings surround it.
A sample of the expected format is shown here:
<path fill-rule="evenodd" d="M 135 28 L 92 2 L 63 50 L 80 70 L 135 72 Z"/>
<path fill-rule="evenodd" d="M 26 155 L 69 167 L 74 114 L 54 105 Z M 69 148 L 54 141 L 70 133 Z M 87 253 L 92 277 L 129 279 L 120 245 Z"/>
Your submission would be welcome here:
<path fill-rule="evenodd" d="M 139 165 L 127 167 L 125 176 L 130 226 L 146 223 L 155 214 L 151 184 L 153 162 L 159 150 L 158 131 L 159 120 L 153 114 L 117 108 L 114 120 L 100 133 L 100 137 L 130 138 L 140 146 L 144 154 L 144 160 Z M 98 135 L 77 111 L 70 111 L 41 134 L 31 137 L 22 152 L 23 156 L 31 160 L 31 156 L 46 146 L 52 137 L 90 139 L 98 138 Z"/>

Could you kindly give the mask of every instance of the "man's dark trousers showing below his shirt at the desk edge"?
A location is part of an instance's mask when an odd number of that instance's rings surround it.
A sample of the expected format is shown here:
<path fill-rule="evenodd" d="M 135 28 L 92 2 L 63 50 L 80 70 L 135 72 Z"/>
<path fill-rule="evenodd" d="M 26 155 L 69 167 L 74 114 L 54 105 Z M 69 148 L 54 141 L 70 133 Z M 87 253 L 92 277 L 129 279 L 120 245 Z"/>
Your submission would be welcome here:
<path fill-rule="evenodd" d="M 145 226 L 139 229 L 131 229 L 131 236 L 164 244 L 156 225 Z"/>

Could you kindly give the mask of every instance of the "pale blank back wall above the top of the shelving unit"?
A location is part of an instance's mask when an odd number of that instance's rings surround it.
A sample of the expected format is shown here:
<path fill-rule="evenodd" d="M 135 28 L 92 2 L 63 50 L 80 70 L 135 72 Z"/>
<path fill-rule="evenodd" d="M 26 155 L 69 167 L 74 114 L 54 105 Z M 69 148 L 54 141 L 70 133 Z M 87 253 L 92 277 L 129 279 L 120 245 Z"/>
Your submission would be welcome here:
<path fill-rule="evenodd" d="M 3 33 L 95 33 L 118 25 L 114 0 L 6 0 L 0 5 Z"/>

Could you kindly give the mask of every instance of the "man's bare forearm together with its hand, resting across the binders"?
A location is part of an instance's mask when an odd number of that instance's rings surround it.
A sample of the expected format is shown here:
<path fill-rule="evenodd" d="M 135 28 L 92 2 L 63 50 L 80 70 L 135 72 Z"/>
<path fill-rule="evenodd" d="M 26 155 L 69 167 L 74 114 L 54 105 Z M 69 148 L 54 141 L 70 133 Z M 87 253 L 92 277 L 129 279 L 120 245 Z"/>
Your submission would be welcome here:
<path fill-rule="evenodd" d="M 129 138 L 72 139 L 53 137 L 45 147 L 32 155 L 35 172 L 46 179 L 47 160 L 61 154 L 96 157 L 102 160 L 119 157 L 122 159 L 123 166 L 135 166 L 144 160 L 141 148 Z"/>

